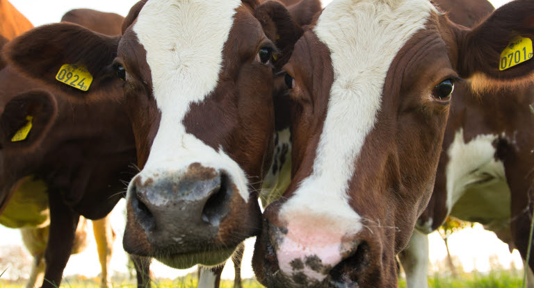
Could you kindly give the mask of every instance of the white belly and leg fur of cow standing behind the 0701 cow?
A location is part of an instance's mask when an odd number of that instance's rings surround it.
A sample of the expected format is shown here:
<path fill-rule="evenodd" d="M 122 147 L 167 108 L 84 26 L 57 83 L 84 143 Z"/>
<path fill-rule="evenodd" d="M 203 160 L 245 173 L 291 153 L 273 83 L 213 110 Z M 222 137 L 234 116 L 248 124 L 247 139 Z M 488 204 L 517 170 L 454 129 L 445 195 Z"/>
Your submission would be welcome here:
<path fill-rule="evenodd" d="M 447 214 L 465 221 L 485 219 L 487 225 L 484 227 L 503 237 L 503 232 L 510 229 L 510 189 L 503 163 L 495 160 L 496 150 L 492 143 L 498 137 L 495 134 L 478 135 L 466 143 L 462 128 L 455 133 L 447 150 L 446 208 Z M 425 265 L 423 261 L 428 262 L 423 257 L 418 259 L 414 260 L 413 266 L 422 267 Z M 422 287 L 421 283 L 426 283 L 426 273 L 418 270 L 405 268 L 407 287 Z"/>

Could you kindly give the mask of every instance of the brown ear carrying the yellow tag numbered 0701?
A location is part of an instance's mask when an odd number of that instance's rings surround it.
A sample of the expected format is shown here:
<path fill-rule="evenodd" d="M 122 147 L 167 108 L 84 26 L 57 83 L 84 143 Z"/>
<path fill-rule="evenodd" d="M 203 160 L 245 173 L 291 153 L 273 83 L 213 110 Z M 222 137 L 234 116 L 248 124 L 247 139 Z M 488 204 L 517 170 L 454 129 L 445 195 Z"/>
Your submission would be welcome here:
<path fill-rule="evenodd" d="M 472 30 L 458 27 L 457 35 L 458 72 L 474 90 L 533 80 L 534 1 L 512 1 Z"/>

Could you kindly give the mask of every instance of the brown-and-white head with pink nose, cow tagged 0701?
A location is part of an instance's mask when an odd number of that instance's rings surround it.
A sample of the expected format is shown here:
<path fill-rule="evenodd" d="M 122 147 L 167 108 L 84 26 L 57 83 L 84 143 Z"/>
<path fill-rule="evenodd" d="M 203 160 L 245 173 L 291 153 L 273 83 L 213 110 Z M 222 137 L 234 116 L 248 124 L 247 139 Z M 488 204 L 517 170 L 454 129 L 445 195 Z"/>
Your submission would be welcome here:
<path fill-rule="evenodd" d="M 396 287 L 395 255 L 428 203 L 460 78 L 479 89 L 531 81 L 499 71 L 534 2 L 473 30 L 428 0 L 334 0 L 284 66 L 292 179 L 264 212 L 254 271 L 267 287 Z"/>

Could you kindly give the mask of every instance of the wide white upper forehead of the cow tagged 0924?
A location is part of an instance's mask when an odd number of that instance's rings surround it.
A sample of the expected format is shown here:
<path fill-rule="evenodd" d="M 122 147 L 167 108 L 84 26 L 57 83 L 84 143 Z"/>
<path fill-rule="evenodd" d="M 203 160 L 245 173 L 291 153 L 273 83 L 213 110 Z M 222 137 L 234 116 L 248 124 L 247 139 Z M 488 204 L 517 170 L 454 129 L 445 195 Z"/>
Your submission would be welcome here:
<path fill-rule="evenodd" d="M 154 98 L 163 113 L 177 102 L 202 101 L 215 89 L 240 5 L 241 0 L 147 1 L 133 31 L 147 51 Z"/>

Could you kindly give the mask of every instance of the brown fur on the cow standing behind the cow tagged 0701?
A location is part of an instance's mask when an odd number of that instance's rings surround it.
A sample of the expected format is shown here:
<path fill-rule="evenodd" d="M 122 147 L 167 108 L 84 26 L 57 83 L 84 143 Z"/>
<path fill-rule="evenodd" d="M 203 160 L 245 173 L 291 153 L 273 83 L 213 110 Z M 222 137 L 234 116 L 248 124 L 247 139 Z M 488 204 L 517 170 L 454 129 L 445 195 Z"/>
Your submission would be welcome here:
<path fill-rule="evenodd" d="M 447 2 L 447 1 L 440 1 Z M 470 2 L 470 1 L 467 1 Z M 486 2 L 485 0 L 477 2 Z M 480 15 L 480 18 L 487 16 L 491 11 L 488 2 L 480 7 L 475 7 L 472 13 Z M 467 5 L 467 3 L 466 3 Z M 446 4 L 442 7 L 447 10 Z M 467 22 L 466 26 L 472 26 L 474 22 L 470 17 L 463 15 L 457 10 L 449 13 L 451 19 L 459 23 Z M 469 19 L 466 19 L 469 18 Z M 514 69 L 510 68 L 510 69 Z M 510 247 L 515 247 L 515 242 L 519 243 L 521 256 L 526 258 L 526 243 L 528 242 L 528 228 L 530 221 L 528 215 L 531 211 L 530 186 L 534 179 L 531 169 L 534 166 L 531 146 L 534 143 L 534 135 L 531 132 L 531 121 L 534 121 L 531 112 L 531 104 L 534 102 L 534 87 L 528 82 L 502 81 L 494 83 L 495 80 L 485 76 L 485 74 L 475 74 L 471 78 L 481 78 L 469 83 L 459 83 L 455 87 L 453 94 L 453 105 L 451 115 L 447 122 L 442 151 L 448 151 L 453 142 L 455 133 L 462 128 L 464 131 L 464 141 L 469 142 L 478 135 L 496 134 L 514 135 L 513 141 L 508 138 L 499 139 L 495 143 L 496 160 L 501 160 L 505 166 L 505 175 L 510 188 L 512 203 L 512 233 L 511 237 L 501 239 Z M 501 81 L 499 81 L 501 82 Z M 474 88 L 474 83 L 480 83 L 482 87 Z M 421 214 L 419 223 L 427 223 L 432 219 L 430 230 L 437 230 L 448 217 L 446 207 L 446 166 L 448 155 L 442 153 L 437 168 L 437 177 L 432 198 L 426 210 Z M 464 219 L 467 221 L 489 221 L 488 219 Z M 500 231 L 495 231 L 500 232 Z M 533 255 L 531 255 L 532 259 Z M 529 263 L 531 269 L 534 263 Z"/>

